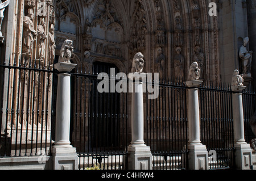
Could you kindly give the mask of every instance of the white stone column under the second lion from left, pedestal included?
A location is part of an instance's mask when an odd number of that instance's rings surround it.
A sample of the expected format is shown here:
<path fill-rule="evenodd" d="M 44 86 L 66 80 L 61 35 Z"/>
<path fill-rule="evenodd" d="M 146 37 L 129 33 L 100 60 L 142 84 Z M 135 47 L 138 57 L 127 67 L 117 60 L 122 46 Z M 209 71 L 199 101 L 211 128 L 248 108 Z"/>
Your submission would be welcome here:
<path fill-rule="evenodd" d="M 144 76 L 146 75 L 144 74 Z M 134 77 L 129 77 L 129 81 L 134 81 Z M 128 169 L 152 169 L 151 150 L 149 146 L 144 144 L 143 82 L 137 78 L 133 83 L 131 98 L 131 144 L 128 147 Z"/>

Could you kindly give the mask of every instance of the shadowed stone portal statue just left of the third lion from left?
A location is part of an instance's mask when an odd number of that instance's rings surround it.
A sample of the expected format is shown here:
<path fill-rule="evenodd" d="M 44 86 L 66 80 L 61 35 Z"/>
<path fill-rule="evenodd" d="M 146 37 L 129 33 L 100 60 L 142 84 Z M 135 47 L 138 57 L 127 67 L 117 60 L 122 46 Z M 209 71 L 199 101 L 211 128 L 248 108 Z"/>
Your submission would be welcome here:
<path fill-rule="evenodd" d="M 175 78 L 183 78 L 184 77 L 184 57 L 181 54 L 181 48 L 177 47 L 176 55 L 174 57 L 174 76 Z"/>

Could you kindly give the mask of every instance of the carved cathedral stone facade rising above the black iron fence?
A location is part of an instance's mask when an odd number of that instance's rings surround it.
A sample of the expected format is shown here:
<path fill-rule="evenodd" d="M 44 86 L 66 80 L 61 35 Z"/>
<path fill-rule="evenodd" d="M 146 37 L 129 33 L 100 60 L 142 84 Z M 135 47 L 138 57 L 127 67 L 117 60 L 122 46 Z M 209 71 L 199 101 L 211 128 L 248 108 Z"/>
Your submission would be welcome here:
<path fill-rule="evenodd" d="M 210 14 L 212 3 L 217 13 Z M 201 79 L 230 82 L 242 71 L 239 49 L 244 37 L 255 52 L 255 1 L 108 1 L 24 0 L 4 12 L 2 57 L 31 57 L 52 65 L 66 39 L 73 41 L 73 63 L 89 71 L 94 62 L 131 69 L 142 52 L 147 72 L 184 79 L 193 61 Z M 213 6 L 214 7 L 214 6 Z M 214 10 L 213 10 L 214 11 Z M 53 30 L 54 28 L 54 30 Z M 2 58 L 2 60 L 3 60 Z M 251 69 L 254 69 L 253 56 Z M 247 81 L 253 81 L 254 71 Z"/>

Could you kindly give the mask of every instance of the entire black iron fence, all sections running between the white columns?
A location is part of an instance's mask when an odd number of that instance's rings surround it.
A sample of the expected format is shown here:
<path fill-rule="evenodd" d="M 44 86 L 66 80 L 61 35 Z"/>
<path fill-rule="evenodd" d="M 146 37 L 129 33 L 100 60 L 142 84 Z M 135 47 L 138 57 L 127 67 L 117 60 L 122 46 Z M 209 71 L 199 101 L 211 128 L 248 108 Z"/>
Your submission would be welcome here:
<path fill-rule="evenodd" d="M 103 63 L 87 72 L 72 73 L 71 142 L 79 156 L 79 169 L 127 167 L 131 94 L 97 90 L 98 73 L 110 75 L 110 68 L 118 73 L 114 65 Z M 0 69 L 0 156 L 51 155 L 57 80 L 53 66 L 16 58 L 3 62 Z M 110 79 L 109 87 L 112 83 Z M 148 99 L 148 95 L 144 94 L 144 139 L 152 151 L 153 169 L 187 169 L 189 107 L 184 81 L 160 82 L 158 99 Z M 249 86 L 243 91 L 246 142 L 255 137 L 249 124 L 255 102 L 255 91 Z M 199 88 L 199 103 L 201 141 L 209 151 L 209 169 L 233 168 L 230 85 L 204 83 Z"/>

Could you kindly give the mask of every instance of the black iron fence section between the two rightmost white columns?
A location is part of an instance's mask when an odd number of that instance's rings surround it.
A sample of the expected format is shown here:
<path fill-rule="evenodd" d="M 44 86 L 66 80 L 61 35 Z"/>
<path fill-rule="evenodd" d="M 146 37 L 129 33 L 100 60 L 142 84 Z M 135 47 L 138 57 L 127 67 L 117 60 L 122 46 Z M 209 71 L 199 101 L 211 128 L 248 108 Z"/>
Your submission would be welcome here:
<path fill-rule="evenodd" d="M 230 85 L 205 82 L 199 94 L 201 142 L 211 151 L 209 169 L 233 168 L 234 133 Z"/>

